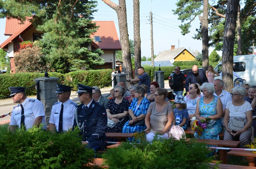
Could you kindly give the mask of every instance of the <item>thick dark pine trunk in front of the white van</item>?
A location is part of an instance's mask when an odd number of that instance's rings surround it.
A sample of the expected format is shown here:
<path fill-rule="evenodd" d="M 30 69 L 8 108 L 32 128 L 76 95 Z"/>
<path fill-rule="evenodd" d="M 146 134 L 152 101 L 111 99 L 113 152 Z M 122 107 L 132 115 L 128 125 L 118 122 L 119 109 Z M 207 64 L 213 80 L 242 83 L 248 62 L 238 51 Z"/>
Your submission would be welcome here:
<path fill-rule="evenodd" d="M 233 88 L 233 52 L 238 4 L 239 0 L 227 1 L 226 21 L 223 35 L 222 80 L 225 83 L 224 90 L 228 92 Z"/>

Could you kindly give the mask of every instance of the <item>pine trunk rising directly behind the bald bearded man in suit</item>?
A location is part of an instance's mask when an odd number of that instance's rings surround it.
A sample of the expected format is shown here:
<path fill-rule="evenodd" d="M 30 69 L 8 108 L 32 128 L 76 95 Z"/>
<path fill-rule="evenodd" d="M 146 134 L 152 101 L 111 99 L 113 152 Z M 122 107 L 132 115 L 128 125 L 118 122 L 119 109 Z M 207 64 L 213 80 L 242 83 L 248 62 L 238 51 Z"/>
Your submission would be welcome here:
<path fill-rule="evenodd" d="M 209 37 L 208 37 L 208 0 L 203 1 L 203 17 L 199 16 L 202 28 L 202 54 L 203 54 L 203 70 L 208 70 L 209 66 Z"/>

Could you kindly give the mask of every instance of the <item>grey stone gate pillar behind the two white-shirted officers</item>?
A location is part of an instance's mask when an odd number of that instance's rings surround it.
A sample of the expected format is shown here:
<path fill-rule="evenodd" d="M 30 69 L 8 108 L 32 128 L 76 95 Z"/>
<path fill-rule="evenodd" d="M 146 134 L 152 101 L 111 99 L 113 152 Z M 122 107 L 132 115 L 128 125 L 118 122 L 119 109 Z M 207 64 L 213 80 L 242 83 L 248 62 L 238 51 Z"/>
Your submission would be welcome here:
<path fill-rule="evenodd" d="M 56 84 L 59 80 L 57 77 L 38 77 L 33 79 L 33 81 L 39 80 L 39 92 L 40 101 L 44 105 L 45 120 L 47 126 L 49 125 L 51 109 L 54 103 L 58 102 L 56 92 Z"/>

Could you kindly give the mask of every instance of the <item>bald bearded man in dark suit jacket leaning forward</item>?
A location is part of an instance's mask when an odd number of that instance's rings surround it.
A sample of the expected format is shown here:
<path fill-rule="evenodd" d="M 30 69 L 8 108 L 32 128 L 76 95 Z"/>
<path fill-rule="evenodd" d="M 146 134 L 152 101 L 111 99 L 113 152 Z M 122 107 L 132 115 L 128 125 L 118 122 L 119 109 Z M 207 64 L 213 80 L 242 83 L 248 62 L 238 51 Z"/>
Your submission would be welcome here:
<path fill-rule="evenodd" d="M 187 77 L 186 77 L 186 82 L 185 82 L 185 89 L 187 94 L 188 93 L 188 87 L 189 83 L 198 83 L 200 86 L 207 82 L 208 79 L 206 77 L 206 74 L 203 69 L 198 69 L 197 65 L 192 66 L 192 71 L 188 72 Z"/>

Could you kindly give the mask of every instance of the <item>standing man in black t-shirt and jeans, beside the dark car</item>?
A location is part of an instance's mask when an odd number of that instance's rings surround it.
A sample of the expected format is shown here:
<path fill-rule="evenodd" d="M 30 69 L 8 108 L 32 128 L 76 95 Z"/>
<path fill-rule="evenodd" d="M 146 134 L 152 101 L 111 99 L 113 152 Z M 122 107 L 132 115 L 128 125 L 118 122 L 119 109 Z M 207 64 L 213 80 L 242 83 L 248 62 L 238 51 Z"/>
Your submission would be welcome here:
<path fill-rule="evenodd" d="M 176 95 L 183 95 L 184 84 L 186 77 L 181 73 L 181 68 L 179 66 L 175 67 L 175 74 L 173 74 L 173 93 Z"/>

